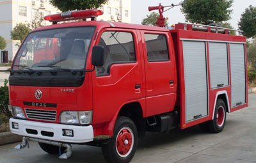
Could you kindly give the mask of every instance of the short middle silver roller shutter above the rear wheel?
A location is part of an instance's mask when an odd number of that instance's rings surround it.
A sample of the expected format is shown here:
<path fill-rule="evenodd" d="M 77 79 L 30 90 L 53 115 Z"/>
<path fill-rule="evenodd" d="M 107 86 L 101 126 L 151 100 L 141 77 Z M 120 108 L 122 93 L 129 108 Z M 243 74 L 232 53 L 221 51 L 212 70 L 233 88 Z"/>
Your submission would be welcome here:
<path fill-rule="evenodd" d="M 209 42 L 211 88 L 228 86 L 227 43 Z"/>

